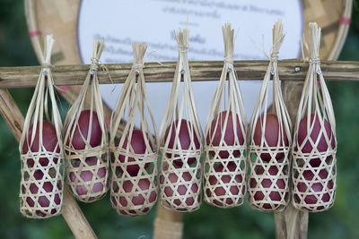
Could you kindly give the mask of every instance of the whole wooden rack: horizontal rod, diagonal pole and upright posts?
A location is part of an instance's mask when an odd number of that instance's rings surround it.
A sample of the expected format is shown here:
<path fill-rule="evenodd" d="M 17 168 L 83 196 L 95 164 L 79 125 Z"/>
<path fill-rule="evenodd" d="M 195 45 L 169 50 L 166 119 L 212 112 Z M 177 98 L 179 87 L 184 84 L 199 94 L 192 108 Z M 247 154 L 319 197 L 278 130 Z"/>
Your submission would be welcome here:
<path fill-rule="evenodd" d="M 284 81 L 285 101 L 290 109 L 290 114 L 296 114 L 298 103 L 297 96 L 302 92 L 302 81 L 308 68 L 308 63 L 302 60 L 280 61 L 279 73 Z M 167 66 L 167 67 L 165 67 Z M 218 81 L 222 62 L 192 62 L 190 71 L 192 81 Z M 237 61 L 234 63 L 241 80 L 256 80 L 263 78 L 267 67 L 267 61 Z M 359 62 L 335 62 L 323 61 L 322 72 L 330 81 L 359 81 Z M 126 80 L 132 64 L 109 64 L 108 71 L 99 73 L 101 83 L 120 83 Z M 53 75 L 55 85 L 82 84 L 89 69 L 88 65 L 59 65 L 54 66 Z M 165 63 L 164 66 L 156 63 L 146 64 L 144 73 L 148 82 L 171 81 L 175 69 L 175 63 Z M 40 66 L 30 67 L 2 67 L 0 68 L 0 114 L 3 115 L 16 140 L 20 139 L 22 133 L 23 116 L 15 101 L 8 92 L 8 88 L 34 87 L 38 80 Z M 157 77 L 161 75 L 162 77 Z M 295 117 L 293 117 L 295 118 Z M 180 213 L 168 213 L 160 207 L 158 213 L 163 218 L 171 218 L 173 225 L 180 229 Z M 97 238 L 92 227 L 84 218 L 71 193 L 66 189 L 64 192 L 63 216 L 70 226 L 76 238 Z M 289 206 L 285 212 L 276 213 L 276 237 L 277 238 L 306 238 L 308 213 L 304 213 Z M 158 218 L 156 219 L 158 223 Z M 155 222 L 155 225 L 156 225 Z M 155 228 L 159 230 L 159 226 Z M 288 231 L 288 228 L 292 228 Z M 155 233 L 156 235 L 156 233 Z M 162 233 L 163 235 L 163 233 Z M 180 238 L 180 235 L 166 235 L 166 238 Z M 162 237 L 162 236 L 161 236 Z M 155 238 L 160 238 L 159 235 Z"/>

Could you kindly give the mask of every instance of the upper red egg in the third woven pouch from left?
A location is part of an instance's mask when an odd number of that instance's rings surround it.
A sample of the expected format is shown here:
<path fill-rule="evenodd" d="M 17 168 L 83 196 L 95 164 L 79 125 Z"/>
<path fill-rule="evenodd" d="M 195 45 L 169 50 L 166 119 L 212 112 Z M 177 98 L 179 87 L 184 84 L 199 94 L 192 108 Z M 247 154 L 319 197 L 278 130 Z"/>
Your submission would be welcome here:
<path fill-rule="evenodd" d="M 127 149 L 127 138 L 125 139 L 122 149 Z M 117 142 L 116 146 L 118 146 L 119 141 Z M 153 149 L 151 141 L 149 141 L 151 149 Z M 144 154 L 146 151 L 146 144 L 144 139 L 144 133 L 141 130 L 133 130 L 132 137 L 131 137 L 131 148 L 134 150 L 135 154 Z M 126 156 L 125 155 L 119 155 L 118 159 L 121 163 L 126 162 Z M 127 162 L 135 162 L 135 158 L 128 157 Z M 149 163 L 144 165 L 144 168 L 148 168 L 150 166 Z M 122 171 L 122 169 L 119 167 L 118 170 Z M 128 165 L 127 166 L 127 172 L 131 176 L 138 175 L 138 171 L 140 170 L 140 166 L 138 164 Z"/>

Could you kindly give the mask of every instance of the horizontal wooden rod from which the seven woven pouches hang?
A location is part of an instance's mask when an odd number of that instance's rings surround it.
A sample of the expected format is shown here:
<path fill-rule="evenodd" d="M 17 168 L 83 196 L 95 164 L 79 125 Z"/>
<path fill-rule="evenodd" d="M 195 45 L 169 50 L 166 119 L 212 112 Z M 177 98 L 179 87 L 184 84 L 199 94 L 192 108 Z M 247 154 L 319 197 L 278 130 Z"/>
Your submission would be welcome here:
<path fill-rule="evenodd" d="M 223 62 L 190 62 L 192 81 L 218 81 Z M 236 61 L 234 68 L 240 80 L 263 79 L 268 61 Z M 300 59 L 279 61 L 279 75 L 282 81 L 303 81 L 308 70 L 308 63 Z M 111 75 L 100 70 L 101 84 L 123 83 L 132 64 L 106 64 Z M 52 69 L 55 84 L 82 85 L 89 71 L 88 64 L 57 65 Z M 172 81 L 176 63 L 144 64 L 147 82 Z M 322 73 L 327 81 L 359 81 L 359 62 L 322 61 Z M 39 77 L 40 66 L 0 67 L 0 88 L 34 87 Z"/>

